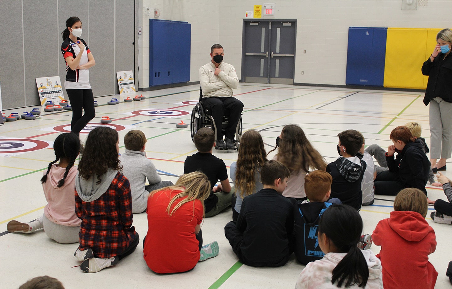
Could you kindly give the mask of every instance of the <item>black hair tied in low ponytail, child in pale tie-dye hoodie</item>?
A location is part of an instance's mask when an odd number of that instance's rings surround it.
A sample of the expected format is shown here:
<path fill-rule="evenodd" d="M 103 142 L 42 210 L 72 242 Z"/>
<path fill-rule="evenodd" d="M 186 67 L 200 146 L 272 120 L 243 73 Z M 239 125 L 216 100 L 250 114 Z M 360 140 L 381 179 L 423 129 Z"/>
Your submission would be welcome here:
<path fill-rule="evenodd" d="M 322 214 L 318 227 L 338 248 L 347 255 L 333 269 L 331 284 L 349 287 L 358 284 L 364 287 L 369 279 L 369 268 L 361 249 L 357 247 L 363 231 L 363 219 L 349 205 L 334 205 Z"/>

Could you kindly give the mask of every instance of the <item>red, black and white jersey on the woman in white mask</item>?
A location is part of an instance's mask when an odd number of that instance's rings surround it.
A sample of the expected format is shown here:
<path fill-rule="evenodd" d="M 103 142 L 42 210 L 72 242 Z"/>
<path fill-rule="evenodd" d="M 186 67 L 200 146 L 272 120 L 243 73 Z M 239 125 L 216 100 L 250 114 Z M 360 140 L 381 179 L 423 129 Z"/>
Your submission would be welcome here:
<path fill-rule="evenodd" d="M 89 51 L 89 48 L 86 45 L 85 40 L 81 39 L 80 37 L 78 37 L 77 40 L 83 42 L 83 44 L 86 47 L 86 49 L 84 49 L 83 51 L 83 55 L 79 64 L 84 65 L 88 63 L 88 53 L 90 53 L 91 51 Z M 75 58 L 80 52 L 80 48 L 77 45 L 71 45 L 71 43 L 74 42 L 72 42 L 72 40 L 69 37 L 67 37 L 66 40 L 61 44 L 61 53 L 63 54 L 63 58 L 65 59 L 67 70 L 66 81 L 89 84 L 89 69 L 71 70 L 69 65 L 67 65 L 66 57 L 72 56 L 73 58 Z"/>

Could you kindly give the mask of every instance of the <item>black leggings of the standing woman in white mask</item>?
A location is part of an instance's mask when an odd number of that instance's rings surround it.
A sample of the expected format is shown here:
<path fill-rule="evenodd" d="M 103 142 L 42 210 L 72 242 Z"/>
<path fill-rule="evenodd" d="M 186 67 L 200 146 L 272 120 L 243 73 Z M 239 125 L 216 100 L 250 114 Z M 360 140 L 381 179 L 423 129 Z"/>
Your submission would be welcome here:
<path fill-rule="evenodd" d="M 80 135 L 80 131 L 96 116 L 94 96 L 91 89 L 66 89 L 72 107 L 71 132 Z M 82 108 L 85 114 L 82 116 Z"/>

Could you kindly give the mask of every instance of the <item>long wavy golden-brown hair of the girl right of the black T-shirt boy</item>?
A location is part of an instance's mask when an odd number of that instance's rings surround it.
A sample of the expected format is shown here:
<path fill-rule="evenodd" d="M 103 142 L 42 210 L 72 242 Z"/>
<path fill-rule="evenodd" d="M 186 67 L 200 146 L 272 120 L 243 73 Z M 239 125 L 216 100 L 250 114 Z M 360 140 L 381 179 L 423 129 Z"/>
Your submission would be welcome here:
<path fill-rule="evenodd" d="M 239 155 L 235 170 L 235 186 L 240 197 L 251 195 L 255 188 L 254 173 L 267 162 L 264 141 L 257 131 L 245 131 L 240 139 Z"/>

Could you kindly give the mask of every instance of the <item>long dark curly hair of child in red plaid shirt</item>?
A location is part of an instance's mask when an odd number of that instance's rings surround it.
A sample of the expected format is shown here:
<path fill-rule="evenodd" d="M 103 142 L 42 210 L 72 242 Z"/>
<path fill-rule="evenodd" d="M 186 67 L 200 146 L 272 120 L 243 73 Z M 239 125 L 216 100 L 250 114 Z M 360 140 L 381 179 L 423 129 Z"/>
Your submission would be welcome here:
<path fill-rule="evenodd" d="M 118 132 L 106 126 L 96 127 L 89 133 L 79 163 L 79 174 L 82 179 L 88 180 L 98 175 L 99 184 L 100 176 L 106 173 L 108 168 L 122 170 L 116 150 L 118 139 Z"/>

